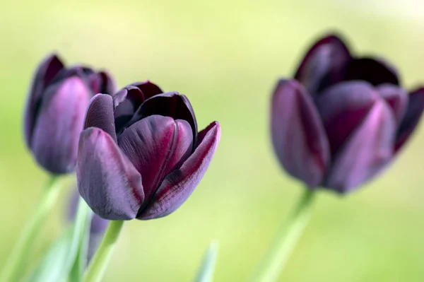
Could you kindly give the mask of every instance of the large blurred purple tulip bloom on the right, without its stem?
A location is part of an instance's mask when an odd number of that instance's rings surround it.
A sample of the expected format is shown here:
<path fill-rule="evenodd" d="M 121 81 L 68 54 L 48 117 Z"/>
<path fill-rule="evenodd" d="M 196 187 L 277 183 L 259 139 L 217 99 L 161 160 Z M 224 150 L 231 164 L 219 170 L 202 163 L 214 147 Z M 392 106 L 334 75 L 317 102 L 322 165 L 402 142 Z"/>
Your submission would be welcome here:
<path fill-rule="evenodd" d="M 354 57 L 335 35 L 316 42 L 294 79 L 272 98 L 273 146 L 283 168 L 310 188 L 349 192 L 394 159 L 424 110 L 382 59 Z"/>

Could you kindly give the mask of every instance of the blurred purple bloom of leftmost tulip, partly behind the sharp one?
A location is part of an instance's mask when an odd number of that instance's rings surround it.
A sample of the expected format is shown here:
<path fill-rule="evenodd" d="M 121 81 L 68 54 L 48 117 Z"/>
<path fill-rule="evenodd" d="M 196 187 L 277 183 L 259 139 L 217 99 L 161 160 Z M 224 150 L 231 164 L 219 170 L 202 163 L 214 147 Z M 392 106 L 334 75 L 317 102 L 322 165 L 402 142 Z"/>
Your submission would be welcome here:
<path fill-rule="evenodd" d="M 25 142 L 35 160 L 54 174 L 75 170 L 79 134 L 90 99 L 113 93 L 105 72 L 85 66 L 66 68 L 56 54 L 37 67 L 25 108 Z"/>

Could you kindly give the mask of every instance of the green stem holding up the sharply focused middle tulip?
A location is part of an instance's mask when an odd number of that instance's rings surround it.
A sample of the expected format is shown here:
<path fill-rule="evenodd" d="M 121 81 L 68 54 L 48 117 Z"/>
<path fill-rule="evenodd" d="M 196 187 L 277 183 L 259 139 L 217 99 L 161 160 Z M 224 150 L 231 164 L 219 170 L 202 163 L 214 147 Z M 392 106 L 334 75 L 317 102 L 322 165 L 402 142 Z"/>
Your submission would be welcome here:
<path fill-rule="evenodd" d="M 114 246 L 117 243 L 123 225 L 124 221 L 110 221 L 109 226 L 107 226 L 105 237 L 103 237 L 100 247 L 91 260 L 90 266 L 88 266 L 84 279 L 85 282 L 102 281 L 102 277 L 105 274 L 107 264 L 112 256 Z"/>

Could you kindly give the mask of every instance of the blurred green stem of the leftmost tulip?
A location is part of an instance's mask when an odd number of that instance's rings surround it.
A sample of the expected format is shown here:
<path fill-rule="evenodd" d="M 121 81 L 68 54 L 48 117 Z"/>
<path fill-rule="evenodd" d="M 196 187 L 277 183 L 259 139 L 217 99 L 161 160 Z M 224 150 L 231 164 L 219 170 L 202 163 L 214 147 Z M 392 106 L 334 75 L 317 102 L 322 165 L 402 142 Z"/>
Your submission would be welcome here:
<path fill-rule="evenodd" d="M 60 188 L 59 176 L 52 175 L 44 189 L 35 212 L 32 213 L 32 217 L 26 223 L 23 233 L 20 234 L 18 242 L 4 266 L 0 281 L 19 281 L 20 277 L 25 273 L 28 254 L 33 248 L 33 242 L 38 233 L 40 233 L 42 224 L 56 203 Z"/>

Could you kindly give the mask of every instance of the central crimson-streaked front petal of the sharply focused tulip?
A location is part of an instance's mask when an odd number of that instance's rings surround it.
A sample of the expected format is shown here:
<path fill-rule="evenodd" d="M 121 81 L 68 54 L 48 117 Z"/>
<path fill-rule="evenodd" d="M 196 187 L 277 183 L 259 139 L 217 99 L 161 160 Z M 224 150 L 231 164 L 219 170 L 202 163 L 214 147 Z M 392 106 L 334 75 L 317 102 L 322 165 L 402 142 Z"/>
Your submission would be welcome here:
<path fill-rule="evenodd" d="M 141 174 L 146 200 L 189 157 L 192 141 L 188 122 L 160 115 L 141 119 L 119 135 L 119 147 Z"/>

